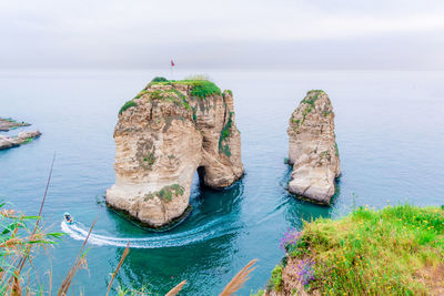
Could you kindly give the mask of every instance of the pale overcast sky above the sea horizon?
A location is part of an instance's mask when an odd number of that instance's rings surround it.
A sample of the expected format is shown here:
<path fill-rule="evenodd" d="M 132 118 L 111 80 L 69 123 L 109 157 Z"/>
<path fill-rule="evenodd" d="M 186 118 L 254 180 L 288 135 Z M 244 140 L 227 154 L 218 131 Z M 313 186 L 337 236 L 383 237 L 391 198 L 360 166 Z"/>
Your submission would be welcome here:
<path fill-rule="evenodd" d="M 443 0 L 0 0 L 0 68 L 444 70 Z"/>

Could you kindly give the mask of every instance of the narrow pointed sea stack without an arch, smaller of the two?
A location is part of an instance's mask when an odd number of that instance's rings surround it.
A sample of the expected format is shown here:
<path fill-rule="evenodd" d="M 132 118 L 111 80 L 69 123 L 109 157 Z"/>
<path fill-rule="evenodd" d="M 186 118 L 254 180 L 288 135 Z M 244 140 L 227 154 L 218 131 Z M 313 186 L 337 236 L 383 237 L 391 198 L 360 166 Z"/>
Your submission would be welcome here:
<path fill-rule="evenodd" d="M 333 108 L 325 92 L 307 92 L 291 115 L 287 134 L 289 163 L 293 164 L 289 191 L 310 201 L 329 204 L 341 167 Z"/>

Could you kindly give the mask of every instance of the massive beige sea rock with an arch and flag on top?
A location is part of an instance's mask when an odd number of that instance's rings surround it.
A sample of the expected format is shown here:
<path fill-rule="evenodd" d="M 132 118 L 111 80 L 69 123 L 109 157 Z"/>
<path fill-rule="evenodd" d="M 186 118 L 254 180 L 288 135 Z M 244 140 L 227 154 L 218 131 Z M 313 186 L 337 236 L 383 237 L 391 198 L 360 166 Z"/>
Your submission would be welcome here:
<path fill-rule="evenodd" d="M 244 172 L 232 93 L 210 81 L 151 82 L 122 106 L 114 140 L 107 203 L 152 227 L 185 213 L 196 170 L 213 188 Z"/>

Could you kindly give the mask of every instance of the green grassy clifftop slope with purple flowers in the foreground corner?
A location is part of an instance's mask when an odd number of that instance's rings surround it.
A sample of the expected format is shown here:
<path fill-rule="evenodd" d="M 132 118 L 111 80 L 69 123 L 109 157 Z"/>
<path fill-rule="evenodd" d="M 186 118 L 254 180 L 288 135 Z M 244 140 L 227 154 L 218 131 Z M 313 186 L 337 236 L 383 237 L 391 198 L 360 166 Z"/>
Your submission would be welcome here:
<path fill-rule="evenodd" d="M 314 279 L 305 285 L 309 293 L 444 293 L 443 207 L 360 207 L 339 221 L 306 223 L 301 236 L 287 242 L 285 249 L 292 258 L 313 263 L 307 267 L 314 273 Z M 271 279 L 275 289 L 282 284 L 279 268 Z"/>

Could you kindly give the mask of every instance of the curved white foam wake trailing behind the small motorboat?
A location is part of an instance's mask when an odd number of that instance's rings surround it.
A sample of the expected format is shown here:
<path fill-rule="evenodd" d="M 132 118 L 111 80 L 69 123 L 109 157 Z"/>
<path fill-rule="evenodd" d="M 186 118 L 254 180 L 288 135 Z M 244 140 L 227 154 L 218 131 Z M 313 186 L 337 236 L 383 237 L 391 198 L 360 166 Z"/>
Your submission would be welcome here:
<path fill-rule="evenodd" d="M 189 245 L 196 242 L 202 242 L 209 238 L 219 237 L 229 233 L 232 233 L 233 228 L 224 229 L 223 223 L 219 221 L 212 221 L 203 226 L 196 227 L 192 231 L 176 233 L 176 234 L 164 234 L 155 235 L 152 237 L 112 237 L 100 234 L 91 233 L 88 242 L 99 246 L 120 246 L 124 247 L 130 243 L 131 247 L 137 248 L 160 248 L 160 247 L 175 247 Z M 61 223 L 61 228 L 64 233 L 69 234 L 73 239 L 84 241 L 88 235 L 88 231 L 80 226 L 79 223 L 67 224 L 64 221 Z"/>

